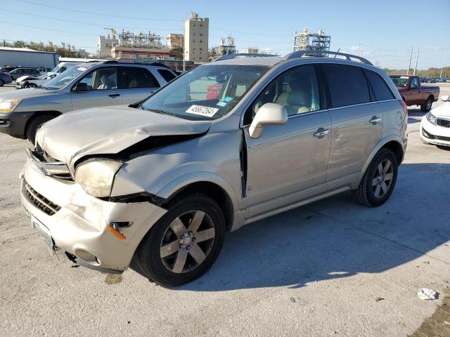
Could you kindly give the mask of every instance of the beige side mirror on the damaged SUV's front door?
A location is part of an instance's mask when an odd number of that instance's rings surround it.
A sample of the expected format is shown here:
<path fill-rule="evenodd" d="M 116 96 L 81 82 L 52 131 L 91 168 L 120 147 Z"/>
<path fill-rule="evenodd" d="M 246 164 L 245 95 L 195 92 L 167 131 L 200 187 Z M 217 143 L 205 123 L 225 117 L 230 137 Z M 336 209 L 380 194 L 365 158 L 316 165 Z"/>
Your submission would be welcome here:
<path fill-rule="evenodd" d="M 248 133 L 251 138 L 259 138 L 266 125 L 279 125 L 288 122 L 288 112 L 283 105 L 266 103 L 259 108 L 255 118 L 250 124 Z"/>

